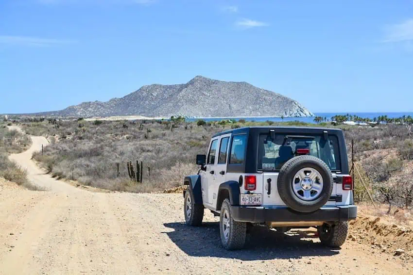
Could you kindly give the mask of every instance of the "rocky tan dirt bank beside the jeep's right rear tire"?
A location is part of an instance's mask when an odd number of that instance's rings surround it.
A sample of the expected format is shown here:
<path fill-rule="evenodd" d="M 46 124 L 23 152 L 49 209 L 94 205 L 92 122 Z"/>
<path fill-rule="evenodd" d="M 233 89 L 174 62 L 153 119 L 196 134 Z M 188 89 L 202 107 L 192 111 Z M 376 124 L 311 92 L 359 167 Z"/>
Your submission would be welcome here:
<path fill-rule="evenodd" d="M 379 217 L 359 215 L 350 222 L 348 239 L 371 245 L 381 253 L 413 261 L 413 229 L 380 220 Z"/>

